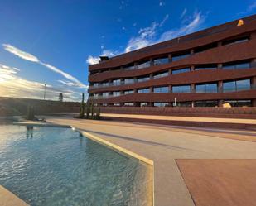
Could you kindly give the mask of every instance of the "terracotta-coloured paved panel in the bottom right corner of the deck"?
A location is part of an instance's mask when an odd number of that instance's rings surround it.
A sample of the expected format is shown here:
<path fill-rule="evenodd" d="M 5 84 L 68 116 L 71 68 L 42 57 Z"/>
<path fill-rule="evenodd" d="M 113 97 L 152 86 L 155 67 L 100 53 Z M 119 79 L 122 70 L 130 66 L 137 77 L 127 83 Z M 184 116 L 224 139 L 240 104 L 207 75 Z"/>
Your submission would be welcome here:
<path fill-rule="evenodd" d="M 253 206 L 256 160 L 176 160 L 196 206 Z"/>

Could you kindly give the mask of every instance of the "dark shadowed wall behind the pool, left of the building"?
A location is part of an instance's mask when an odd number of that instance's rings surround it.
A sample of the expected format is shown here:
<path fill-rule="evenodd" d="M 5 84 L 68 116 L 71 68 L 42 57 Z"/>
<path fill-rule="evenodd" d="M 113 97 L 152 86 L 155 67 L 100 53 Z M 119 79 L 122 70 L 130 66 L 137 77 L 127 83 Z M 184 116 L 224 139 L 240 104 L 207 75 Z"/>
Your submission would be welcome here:
<path fill-rule="evenodd" d="M 27 105 L 35 108 L 35 113 L 78 113 L 80 103 L 59 102 L 30 98 L 0 97 L 0 116 L 24 115 Z"/>

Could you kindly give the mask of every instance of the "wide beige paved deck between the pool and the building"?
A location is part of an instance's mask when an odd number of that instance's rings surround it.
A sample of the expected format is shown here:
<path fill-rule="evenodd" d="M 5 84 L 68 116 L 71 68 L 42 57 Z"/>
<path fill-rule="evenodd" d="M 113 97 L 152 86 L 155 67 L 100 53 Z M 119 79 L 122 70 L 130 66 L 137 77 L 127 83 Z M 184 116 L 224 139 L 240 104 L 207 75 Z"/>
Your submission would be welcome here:
<path fill-rule="evenodd" d="M 157 206 L 195 206 L 176 159 L 256 159 L 256 143 L 253 141 L 256 138 L 255 131 L 162 127 L 65 117 L 48 117 L 47 120 L 77 127 L 153 160 Z M 239 137 L 239 140 L 230 139 L 230 136 Z M 229 188 L 225 189 L 229 191 Z M 256 194 L 255 188 L 254 191 Z M 251 204 L 244 203 L 241 206 L 244 205 Z"/>

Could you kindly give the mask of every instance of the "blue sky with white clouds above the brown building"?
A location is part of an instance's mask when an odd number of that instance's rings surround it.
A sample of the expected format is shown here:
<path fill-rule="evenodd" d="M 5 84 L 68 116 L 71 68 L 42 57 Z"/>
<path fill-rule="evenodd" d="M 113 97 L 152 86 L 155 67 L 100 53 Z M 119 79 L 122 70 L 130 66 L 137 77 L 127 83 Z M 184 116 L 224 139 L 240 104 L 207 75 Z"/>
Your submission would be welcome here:
<path fill-rule="evenodd" d="M 88 65 L 256 13 L 256 0 L 0 0 L 0 96 L 80 101 Z M 87 95 L 87 94 L 86 94 Z"/>

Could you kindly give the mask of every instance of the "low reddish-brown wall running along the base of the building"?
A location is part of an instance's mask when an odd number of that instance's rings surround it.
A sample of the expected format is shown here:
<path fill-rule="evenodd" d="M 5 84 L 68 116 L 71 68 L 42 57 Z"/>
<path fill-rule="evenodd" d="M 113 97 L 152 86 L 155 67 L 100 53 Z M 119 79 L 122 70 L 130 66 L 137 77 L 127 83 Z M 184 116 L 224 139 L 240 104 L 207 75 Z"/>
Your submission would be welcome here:
<path fill-rule="evenodd" d="M 256 118 L 256 108 L 172 108 L 172 107 L 103 107 L 101 113 L 129 113 L 188 117 Z"/>

